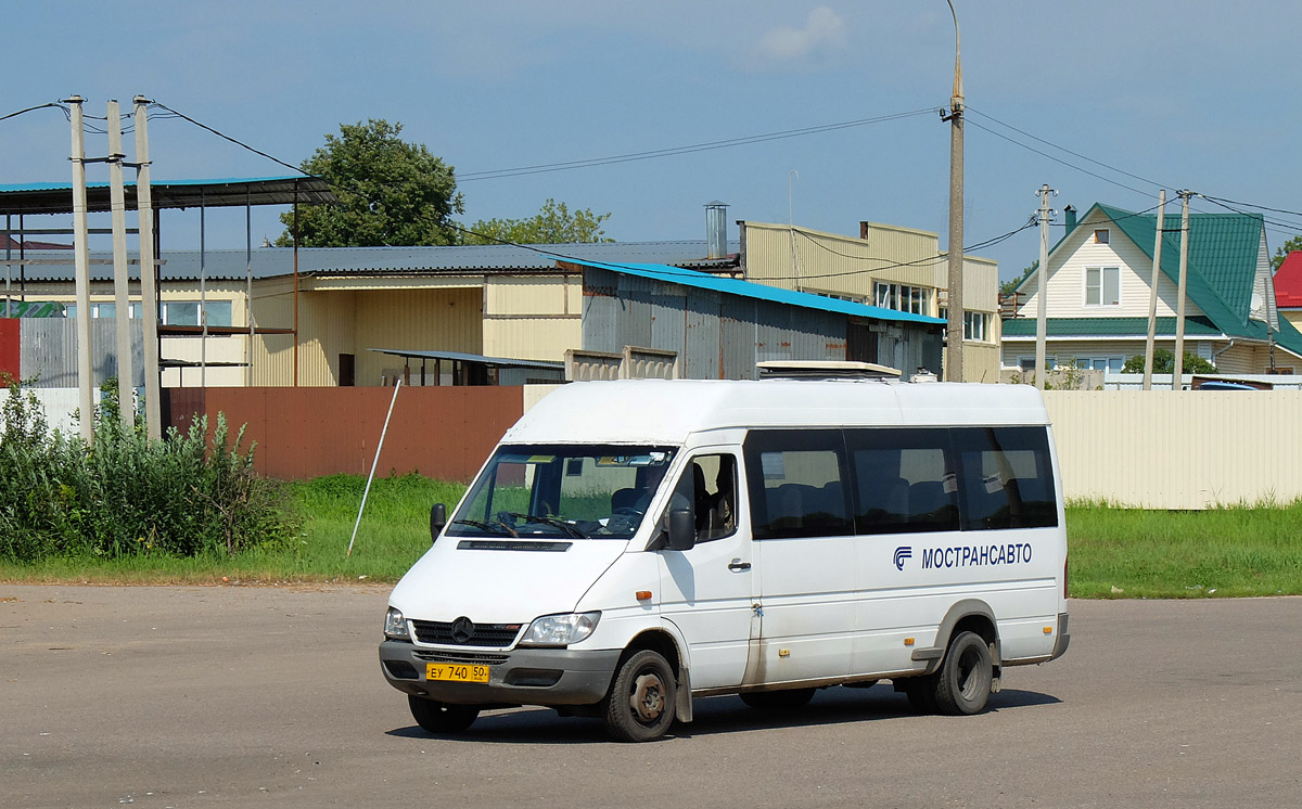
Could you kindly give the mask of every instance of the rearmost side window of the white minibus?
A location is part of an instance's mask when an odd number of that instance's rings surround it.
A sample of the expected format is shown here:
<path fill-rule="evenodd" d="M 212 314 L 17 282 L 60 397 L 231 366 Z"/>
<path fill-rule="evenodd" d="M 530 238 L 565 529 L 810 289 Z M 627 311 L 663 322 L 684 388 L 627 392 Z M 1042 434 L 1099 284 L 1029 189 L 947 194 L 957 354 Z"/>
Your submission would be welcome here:
<path fill-rule="evenodd" d="M 963 477 L 965 531 L 1057 525 L 1046 428 L 961 428 L 953 434 Z"/>

